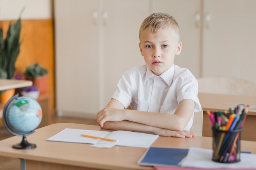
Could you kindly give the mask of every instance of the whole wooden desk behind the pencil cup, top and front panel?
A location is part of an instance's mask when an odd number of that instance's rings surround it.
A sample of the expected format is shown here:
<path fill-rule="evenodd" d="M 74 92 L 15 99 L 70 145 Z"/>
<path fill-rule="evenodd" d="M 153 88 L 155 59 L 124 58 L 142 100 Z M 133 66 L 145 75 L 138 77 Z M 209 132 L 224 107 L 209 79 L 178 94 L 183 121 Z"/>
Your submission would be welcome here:
<path fill-rule="evenodd" d="M 211 122 L 205 113 L 210 111 L 229 110 L 234 104 L 249 104 L 256 106 L 256 97 L 239 96 L 239 95 L 223 95 L 211 93 L 198 93 L 200 104 L 204 110 L 203 115 L 203 136 L 212 137 Z M 256 141 L 256 110 L 249 110 L 245 119 L 241 139 L 247 141 Z"/>

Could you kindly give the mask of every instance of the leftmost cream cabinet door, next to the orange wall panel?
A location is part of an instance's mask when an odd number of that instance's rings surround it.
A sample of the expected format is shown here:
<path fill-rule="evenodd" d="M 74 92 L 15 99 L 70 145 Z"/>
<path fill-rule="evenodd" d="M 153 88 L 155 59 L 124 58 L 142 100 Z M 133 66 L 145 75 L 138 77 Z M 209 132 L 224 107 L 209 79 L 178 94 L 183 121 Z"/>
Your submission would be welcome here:
<path fill-rule="evenodd" d="M 97 0 L 54 0 L 56 108 L 60 115 L 95 115 L 99 110 L 98 7 Z"/>

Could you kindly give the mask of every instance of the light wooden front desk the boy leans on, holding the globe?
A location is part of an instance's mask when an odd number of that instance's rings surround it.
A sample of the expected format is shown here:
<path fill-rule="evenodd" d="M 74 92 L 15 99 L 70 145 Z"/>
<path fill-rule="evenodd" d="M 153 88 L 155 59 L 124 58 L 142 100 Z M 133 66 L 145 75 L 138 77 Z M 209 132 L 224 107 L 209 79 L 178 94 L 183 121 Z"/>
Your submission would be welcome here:
<path fill-rule="evenodd" d="M 39 128 L 27 136 L 36 148 L 31 150 L 13 149 L 22 137 L 11 137 L 0 141 L 0 155 L 21 159 L 21 168 L 27 170 L 153 170 L 153 167 L 138 166 L 137 161 L 146 152 L 146 148 L 115 146 L 113 148 L 94 148 L 91 144 L 46 141 L 64 128 L 100 130 L 99 126 L 83 124 L 52 124 Z M 175 138 L 159 137 L 153 147 L 168 148 L 212 148 L 211 137 Z M 241 141 L 241 150 L 256 154 L 256 142 Z"/>

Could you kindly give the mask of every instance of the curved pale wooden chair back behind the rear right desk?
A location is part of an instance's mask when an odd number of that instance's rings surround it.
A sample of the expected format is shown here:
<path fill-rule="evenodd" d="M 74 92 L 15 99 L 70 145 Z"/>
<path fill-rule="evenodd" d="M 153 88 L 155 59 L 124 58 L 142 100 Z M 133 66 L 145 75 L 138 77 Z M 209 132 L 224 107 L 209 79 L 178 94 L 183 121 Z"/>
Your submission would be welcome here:
<path fill-rule="evenodd" d="M 234 77 L 201 77 L 197 80 L 199 93 L 256 95 L 256 85 L 245 79 Z"/>

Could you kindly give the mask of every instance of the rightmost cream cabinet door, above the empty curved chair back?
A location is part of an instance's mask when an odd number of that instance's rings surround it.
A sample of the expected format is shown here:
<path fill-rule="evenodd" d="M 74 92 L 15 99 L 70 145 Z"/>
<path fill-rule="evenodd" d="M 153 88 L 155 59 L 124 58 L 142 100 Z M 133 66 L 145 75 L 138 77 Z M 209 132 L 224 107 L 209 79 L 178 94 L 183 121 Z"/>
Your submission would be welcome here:
<path fill-rule="evenodd" d="M 203 76 L 229 76 L 256 83 L 256 1 L 205 0 Z"/>

